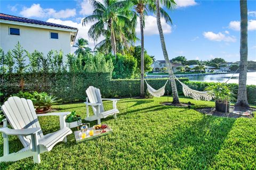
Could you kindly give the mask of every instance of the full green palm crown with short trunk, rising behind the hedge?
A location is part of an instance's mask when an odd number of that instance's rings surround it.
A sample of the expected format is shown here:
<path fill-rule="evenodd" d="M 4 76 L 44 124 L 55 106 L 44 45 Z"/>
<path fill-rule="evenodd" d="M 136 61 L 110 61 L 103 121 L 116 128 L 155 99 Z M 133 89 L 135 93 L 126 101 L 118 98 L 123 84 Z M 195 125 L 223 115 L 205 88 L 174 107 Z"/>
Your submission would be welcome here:
<path fill-rule="evenodd" d="M 117 0 L 103 0 L 103 3 L 96 0 L 90 2 L 94 11 L 92 15 L 83 19 L 83 25 L 95 22 L 88 31 L 89 37 L 94 41 L 97 41 L 101 36 L 105 37 L 106 41 L 110 39 L 111 50 L 116 55 L 116 37 L 125 37 L 125 31 L 132 30 L 130 32 L 135 33 L 135 22 L 132 22 L 134 15 L 132 11 L 128 10 L 131 3 Z M 124 31 L 124 29 L 126 30 Z"/>

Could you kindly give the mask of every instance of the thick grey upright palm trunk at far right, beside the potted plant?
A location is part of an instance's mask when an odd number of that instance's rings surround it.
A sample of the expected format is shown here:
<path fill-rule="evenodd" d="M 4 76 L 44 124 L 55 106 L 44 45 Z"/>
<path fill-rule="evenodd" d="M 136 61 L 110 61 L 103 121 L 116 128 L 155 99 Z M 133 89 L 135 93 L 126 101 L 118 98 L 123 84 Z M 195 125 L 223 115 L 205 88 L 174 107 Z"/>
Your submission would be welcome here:
<path fill-rule="evenodd" d="M 238 96 L 236 105 L 249 107 L 246 94 L 246 79 L 247 79 L 247 1 L 240 0 L 241 14 L 241 37 L 240 37 L 240 64 L 239 64 L 239 84 Z"/>

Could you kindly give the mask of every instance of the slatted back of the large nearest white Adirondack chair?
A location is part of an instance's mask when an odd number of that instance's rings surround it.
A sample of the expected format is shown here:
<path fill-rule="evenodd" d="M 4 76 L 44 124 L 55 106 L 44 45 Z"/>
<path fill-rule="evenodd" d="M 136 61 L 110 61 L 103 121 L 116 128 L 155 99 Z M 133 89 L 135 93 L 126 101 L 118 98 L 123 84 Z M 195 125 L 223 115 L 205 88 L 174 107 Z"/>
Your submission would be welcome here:
<path fill-rule="evenodd" d="M 2 106 L 2 111 L 13 129 L 41 128 L 31 100 L 10 97 Z M 39 139 L 43 136 L 42 130 L 39 131 Z M 30 136 L 19 136 L 19 139 L 24 147 L 29 146 Z"/>

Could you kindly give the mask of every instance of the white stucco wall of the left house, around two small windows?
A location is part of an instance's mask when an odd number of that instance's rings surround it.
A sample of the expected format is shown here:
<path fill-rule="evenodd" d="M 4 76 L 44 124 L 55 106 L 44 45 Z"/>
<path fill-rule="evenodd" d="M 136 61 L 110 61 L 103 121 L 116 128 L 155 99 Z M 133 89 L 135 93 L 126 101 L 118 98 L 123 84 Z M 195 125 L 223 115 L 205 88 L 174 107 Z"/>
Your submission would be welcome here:
<path fill-rule="evenodd" d="M 19 28 L 20 36 L 9 35 L 9 27 Z M 63 54 L 66 55 L 71 51 L 69 31 L 33 28 L 6 23 L 0 24 L 0 30 L 0 45 L 5 53 L 7 53 L 9 49 L 12 50 L 18 41 L 28 52 L 33 52 L 36 49 L 46 55 L 51 49 L 61 49 Z M 51 39 L 50 32 L 58 32 L 59 39 Z"/>

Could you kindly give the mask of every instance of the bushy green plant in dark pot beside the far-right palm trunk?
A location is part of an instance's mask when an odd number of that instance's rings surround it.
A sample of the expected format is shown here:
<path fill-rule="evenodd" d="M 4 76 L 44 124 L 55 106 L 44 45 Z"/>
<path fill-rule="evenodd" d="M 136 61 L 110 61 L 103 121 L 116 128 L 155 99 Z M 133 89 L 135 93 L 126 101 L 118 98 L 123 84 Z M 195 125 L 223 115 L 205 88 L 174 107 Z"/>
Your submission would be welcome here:
<path fill-rule="evenodd" d="M 215 109 L 219 112 L 229 112 L 230 101 L 234 94 L 227 83 L 215 83 L 205 90 L 215 99 Z"/>

